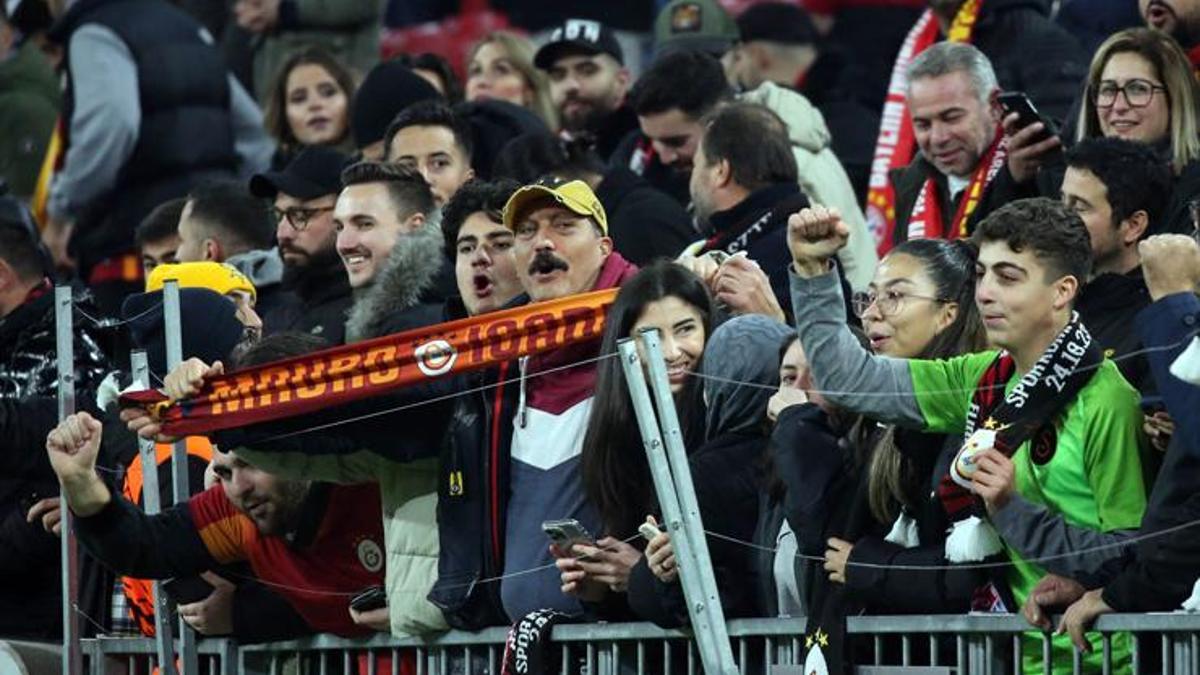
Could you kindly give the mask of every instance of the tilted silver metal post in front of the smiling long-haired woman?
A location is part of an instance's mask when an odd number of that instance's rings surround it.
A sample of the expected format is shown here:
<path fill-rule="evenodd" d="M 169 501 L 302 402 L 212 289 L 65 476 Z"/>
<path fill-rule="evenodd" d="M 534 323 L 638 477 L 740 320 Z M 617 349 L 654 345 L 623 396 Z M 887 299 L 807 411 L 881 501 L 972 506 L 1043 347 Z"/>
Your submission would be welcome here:
<path fill-rule="evenodd" d="M 688 454 L 683 448 L 683 436 L 676 416 L 674 400 L 670 395 L 666 368 L 662 363 L 656 333 L 648 340 L 648 333 L 642 334 L 642 345 L 650 362 L 652 381 L 655 382 L 655 394 L 659 389 L 667 393 L 665 401 L 659 401 L 658 418 L 655 406 L 642 372 L 642 363 L 637 357 L 637 347 L 632 340 L 617 344 L 620 364 L 629 384 L 629 394 L 637 414 L 637 425 L 646 444 L 646 456 L 649 461 L 654 489 L 662 508 L 665 525 L 671 532 L 671 543 L 676 550 L 676 562 L 679 565 L 679 583 L 683 585 L 688 601 L 688 615 L 700 650 L 700 658 L 706 673 L 737 673 L 733 662 L 733 649 L 725 628 L 725 613 L 716 593 L 716 581 L 713 579 L 713 566 L 708 556 L 708 544 L 704 539 L 704 527 L 696 506 L 696 494 L 691 484 L 691 471 Z M 659 368 L 654 368 L 654 364 Z M 664 446 L 659 425 L 666 431 Z M 666 453 L 664 453 L 664 447 Z M 683 479 L 680 479 L 680 476 Z"/>

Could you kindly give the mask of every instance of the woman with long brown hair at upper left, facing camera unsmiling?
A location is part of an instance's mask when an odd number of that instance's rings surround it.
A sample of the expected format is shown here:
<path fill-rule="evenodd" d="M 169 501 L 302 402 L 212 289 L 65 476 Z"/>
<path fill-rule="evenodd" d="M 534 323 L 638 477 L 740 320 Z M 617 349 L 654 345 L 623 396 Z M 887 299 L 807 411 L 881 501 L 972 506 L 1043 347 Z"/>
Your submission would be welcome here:
<path fill-rule="evenodd" d="M 292 54 L 280 68 L 266 101 L 264 125 L 278 143 L 276 166 L 305 145 L 353 151 L 350 102 L 354 76 L 332 54 L 319 48 Z"/>

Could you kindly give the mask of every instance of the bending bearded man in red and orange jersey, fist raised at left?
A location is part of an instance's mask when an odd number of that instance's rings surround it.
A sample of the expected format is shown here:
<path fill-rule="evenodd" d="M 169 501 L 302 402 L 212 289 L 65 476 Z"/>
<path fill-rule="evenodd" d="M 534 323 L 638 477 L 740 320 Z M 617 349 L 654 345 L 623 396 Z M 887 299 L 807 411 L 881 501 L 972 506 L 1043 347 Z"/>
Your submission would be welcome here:
<path fill-rule="evenodd" d="M 96 473 L 101 436 L 101 423 L 82 412 L 50 432 L 46 449 L 76 515 L 79 542 L 104 565 L 132 577 L 166 579 L 245 561 L 313 632 L 367 632 L 350 619 L 349 598 L 383 581 L 376 485 L 281 479 L 247 465 L 238 450 L 215 452 L 220 484 L 146 515 L 114 496 Z M 216 585 L 223 590 L 212 592 L 228 592 Z M 198 604 L 181 605 L 180 614 L 187 619 Z M 228 625 L 204 631 L 228 634 L 238 625 L 234 613 Z"/>

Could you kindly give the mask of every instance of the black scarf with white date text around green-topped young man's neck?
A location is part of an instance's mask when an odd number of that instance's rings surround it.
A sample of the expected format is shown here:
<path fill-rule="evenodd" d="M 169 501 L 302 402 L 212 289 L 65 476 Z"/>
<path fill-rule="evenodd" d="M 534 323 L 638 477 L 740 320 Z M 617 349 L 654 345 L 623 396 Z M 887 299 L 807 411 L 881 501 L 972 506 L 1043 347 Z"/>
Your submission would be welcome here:
<path fill-rule="evenodd" d="M 971 398 L 962 448 L 937 486 L 937 496 L 954 530 L 971 518 L 982 520 L 985 513 L 971 491 L 976 455 L 996 448 L 1013 456 L 1022 443 L 1032 440 L 1030 459 L 1037 465 L 1049 462 L 1057 447 L 1055 416 L 1075 400 L 1102 360 L 1100 350 L 1078 312 L 1007 395 L 1004 386 L 1016 372 L 1016 363 L 1008 352 L 996 356 Z M 964 555 L 961 542 L 952 544 L 953 538 L 954 531 L 947 538 L 947 558 L 952 562 L 983 560 L 998 552 L 998 548 L 986 546 L 989 550 L 982 555 Z M 968 550 L 977 551 L 971 546 Z"/>

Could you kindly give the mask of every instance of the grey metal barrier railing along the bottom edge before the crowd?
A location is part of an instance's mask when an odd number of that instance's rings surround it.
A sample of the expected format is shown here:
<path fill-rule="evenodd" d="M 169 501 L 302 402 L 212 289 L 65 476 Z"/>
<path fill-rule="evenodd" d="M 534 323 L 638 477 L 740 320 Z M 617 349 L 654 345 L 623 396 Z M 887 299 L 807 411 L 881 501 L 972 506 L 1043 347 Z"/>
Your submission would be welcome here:
<path fill-rule="evenodd" d="M 955 673 L 1090 673 L 1076 653 L 1063 662 L 1052 655 L 1050 635 L 1033 633 L 1015 615 L 857 616 L 847 619 L 847 655 L 864 671 Z M 804 619 L 742 619 L 727 622 L 733 655 L 743 675 L 799 673 L 808 649 Z M 1103 673 L 1200 674 L 1200 615 L 1127 614 L 1103 616 Z M 451 631 L 430 638 L 367 639 L 334 635 L 236 645 L 233 640 L 198 641 L 204 675 L 498 675 L 506 628 L 478 633 Z M 1031 634 L 1040 635 L 1038 665 L 1022 670 Z M 1130 634 L 1127 659 L 1114 661 L 1111 639 Z M 690 631 L 652 623 L 576 623 L 556 626 L 551 649 L 564 675 L 665 675 L 702 673 Z M 91 673 L 151 673 L 155 641 L 84 640 Z M 1027 664 L 1026 664 L 1027 665 Z M 881 669 L 881 670 L 874 670 Z"/>

